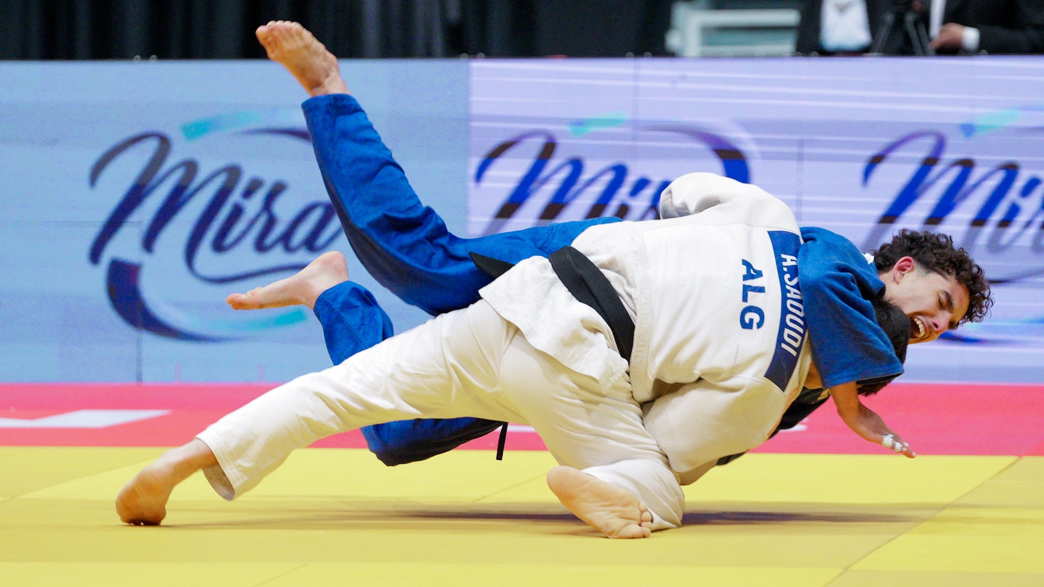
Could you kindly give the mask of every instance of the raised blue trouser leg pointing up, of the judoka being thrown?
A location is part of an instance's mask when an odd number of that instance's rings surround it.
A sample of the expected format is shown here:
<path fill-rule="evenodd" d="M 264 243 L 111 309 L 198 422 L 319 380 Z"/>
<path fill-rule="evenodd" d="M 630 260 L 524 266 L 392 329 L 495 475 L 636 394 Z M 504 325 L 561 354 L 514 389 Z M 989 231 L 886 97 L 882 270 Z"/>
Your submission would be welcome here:
<path fill-rule="evenodd" d="M 303 108 L 315 160 L 352 250 L 378 283 L 428 314 L 478 300 L 478 290 L 491 278 L 475 267 L 471 252 L 514 264 L 547 256 L 589 226 L 618 221 L 593 218 L 475 239 L 457 237 L 421 203 L 355 98 L 317 96 Z"/>

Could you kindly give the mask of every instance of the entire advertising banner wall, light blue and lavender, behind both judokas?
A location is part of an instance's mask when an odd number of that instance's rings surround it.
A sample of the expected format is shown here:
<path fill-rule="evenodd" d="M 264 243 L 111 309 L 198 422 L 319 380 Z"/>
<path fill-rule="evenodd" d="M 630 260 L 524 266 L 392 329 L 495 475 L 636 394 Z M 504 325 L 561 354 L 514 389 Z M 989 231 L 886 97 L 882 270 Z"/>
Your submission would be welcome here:
<path fill-rule="evenodd" d="M 1038 58 L 342 62 L 450 229 L 652 218 L 691 171 L 757 184 L 871 249 L 952 235 L 982 324 L 906 381 L 1044 381 Z M 354 260 L 266 62 L 0 65 L 0 381 L 285 381 L 329 365 L 309 312 L 226 295 L 349 256 L 397 332 L 426 315 Z"/>

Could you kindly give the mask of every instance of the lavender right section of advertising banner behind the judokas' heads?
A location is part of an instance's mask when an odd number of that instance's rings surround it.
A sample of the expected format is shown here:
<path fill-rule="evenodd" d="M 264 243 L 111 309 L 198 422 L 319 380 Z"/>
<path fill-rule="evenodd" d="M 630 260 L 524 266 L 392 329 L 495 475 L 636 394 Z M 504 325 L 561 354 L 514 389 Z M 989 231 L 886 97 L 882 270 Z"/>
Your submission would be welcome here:
<path fill-rule="evenodd" d="M 952 235 L 997 304 L 910 347 L 904 381 L 1044 381 L 1044 60 L 471 64 L 471 235 L 651 218 L 692 171 L 756 184 L 870 250 Z"/>

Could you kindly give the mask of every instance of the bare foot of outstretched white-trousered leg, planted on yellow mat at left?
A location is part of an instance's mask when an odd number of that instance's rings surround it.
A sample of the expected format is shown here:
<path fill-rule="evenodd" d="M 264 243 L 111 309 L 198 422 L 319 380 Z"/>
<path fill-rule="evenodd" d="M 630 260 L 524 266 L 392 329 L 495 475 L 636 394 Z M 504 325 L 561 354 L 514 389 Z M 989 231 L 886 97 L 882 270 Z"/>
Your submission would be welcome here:
<path fill-rule="evenodd" d="M 167 499 L 174 486 L 195 471 L 216 464 L 214 453 L 201 440 L 171 448 L 120 491 L 116 513 L 125 523 L 157 525 L 167 517 Z"/>

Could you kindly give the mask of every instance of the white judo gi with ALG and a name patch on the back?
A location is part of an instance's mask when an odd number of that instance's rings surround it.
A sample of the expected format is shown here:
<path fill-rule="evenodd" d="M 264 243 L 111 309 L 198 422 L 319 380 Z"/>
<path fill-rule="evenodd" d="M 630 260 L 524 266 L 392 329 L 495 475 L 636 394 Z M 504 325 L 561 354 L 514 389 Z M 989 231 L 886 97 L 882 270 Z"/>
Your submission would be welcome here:
<path fill-rule="evenodd" d="M 755 186 L 709 173 L 664 192 L 679 218 L 593 226 L 573 242 L 635 321 L 620 357 L 604 320 L 544 258 L 481 300 L 293 380 L 197 438 L 226 498 L 294 448 L 381 422 L 472 416 L 527 423 L 563 465 L 638 495 L 654 529 L 681 524 L 691 481 L 763 442 L 810 363 L 797 221 Z"/>

